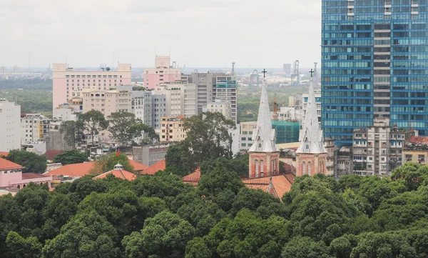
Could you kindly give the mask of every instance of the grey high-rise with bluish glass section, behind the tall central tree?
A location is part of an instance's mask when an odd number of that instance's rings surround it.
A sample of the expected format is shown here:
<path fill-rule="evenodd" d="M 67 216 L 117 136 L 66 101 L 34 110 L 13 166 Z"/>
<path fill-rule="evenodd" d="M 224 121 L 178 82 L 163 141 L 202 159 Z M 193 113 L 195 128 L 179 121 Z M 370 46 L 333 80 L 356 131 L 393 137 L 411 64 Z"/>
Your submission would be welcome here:
<path fill-rule="evenodd" d="M 238 83 L 236 76 L 225 73 L 195 72 L 183 76 L 188 82 L 195 84 L 197 90 L 198 114 L 203 106 L 215 99 L 225 101 L 229 105 L 230 119 L 238 121 Z"/>

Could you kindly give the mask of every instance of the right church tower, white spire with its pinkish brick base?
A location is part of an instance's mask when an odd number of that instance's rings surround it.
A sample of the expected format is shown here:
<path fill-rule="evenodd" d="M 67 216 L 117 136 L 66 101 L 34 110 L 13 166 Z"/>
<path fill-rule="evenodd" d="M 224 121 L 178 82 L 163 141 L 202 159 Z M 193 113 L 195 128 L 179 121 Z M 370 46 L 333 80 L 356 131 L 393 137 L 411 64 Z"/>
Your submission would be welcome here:
<path fill-rule="evenodd" d="M 312 69 L 307 99 L 305 120 L 299 133 L 300 146 L 296 151 L 296 175 L 313 176 L 327 172 L 327 150 L 324 147 L 322 130 L 318 124 L 317 104 L 315 104 Z"/>

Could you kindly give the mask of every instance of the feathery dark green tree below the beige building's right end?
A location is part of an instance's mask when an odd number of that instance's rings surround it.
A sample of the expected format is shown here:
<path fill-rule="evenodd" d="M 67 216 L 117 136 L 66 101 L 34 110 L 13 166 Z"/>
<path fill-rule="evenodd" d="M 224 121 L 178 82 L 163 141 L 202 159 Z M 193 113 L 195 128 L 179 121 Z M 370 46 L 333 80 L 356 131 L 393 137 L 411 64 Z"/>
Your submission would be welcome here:
<path fill-rule="evenodd" d="M 136 124 L 136 115 L 126 111 L 111 113 L 108 119 L 108 132 L 111 132 L 113 139 L 123 146 L 128 146 L 133 139 L 132 126 Z"/>

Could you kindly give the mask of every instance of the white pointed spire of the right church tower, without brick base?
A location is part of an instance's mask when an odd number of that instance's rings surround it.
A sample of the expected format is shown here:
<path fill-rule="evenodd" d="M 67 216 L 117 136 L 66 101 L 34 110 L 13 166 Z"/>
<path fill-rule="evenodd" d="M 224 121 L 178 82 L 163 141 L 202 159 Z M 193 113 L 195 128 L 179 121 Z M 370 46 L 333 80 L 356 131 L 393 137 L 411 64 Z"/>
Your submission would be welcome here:
<path fill-rule="evenodd" d="M 300 146 L 296 153 L 327 153 L 322 138 L 322 130 L 318 124 L 317 104 L 315 103 L 314 85 L 312 73 L 310 77 L 309 94 L 307 98 L 307 108 L 305 120 L 299 133 Z"/>

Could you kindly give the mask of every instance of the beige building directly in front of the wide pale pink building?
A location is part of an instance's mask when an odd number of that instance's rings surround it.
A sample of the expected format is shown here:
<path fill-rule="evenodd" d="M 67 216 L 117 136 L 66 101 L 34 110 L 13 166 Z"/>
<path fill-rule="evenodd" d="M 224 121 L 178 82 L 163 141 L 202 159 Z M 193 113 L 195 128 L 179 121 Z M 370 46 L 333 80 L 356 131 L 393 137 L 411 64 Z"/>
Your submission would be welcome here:
<path fill-rule="evenodd" d="M 131 92 L 129 91 L 83 91 L 83 113 L 98 110 L 107 116 L 118 111 L 132 112 Z"/>

